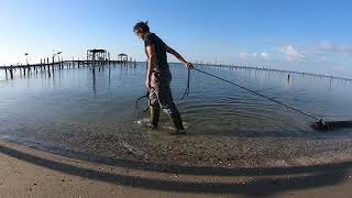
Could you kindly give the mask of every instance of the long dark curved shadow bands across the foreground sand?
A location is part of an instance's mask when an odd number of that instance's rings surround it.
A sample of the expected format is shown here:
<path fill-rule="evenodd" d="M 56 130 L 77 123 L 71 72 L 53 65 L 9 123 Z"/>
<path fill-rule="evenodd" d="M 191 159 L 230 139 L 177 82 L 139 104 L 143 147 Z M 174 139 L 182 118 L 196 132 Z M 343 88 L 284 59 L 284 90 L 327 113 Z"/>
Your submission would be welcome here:
<path fill-rule="evenodd" d="M 286 190 L 307 189 L 322 186 L 331 186 L 343 183 L 352 162 L 324 164 L 299 167 L 272 167 L 272 168 L 218 168 L 218 167 L 188 167 L 177 165 L 163 165 L 154 163 L 133 162 L 91 156 L 88 154 L 70 151 L 74 158 L 86 160 L 117 167 L 134 168 L 162 173 L 177 173 L 185 175 L 208 175 L 208 176 L 267 176 L 255 178 L 245 184 L 230 183 L 193 183 L 174 182 L 157 178 L 142 178 L 125 176 L 106 172 L 91 170 L 77 167 L 52 160 L 42 158 L 23 153 L 11 147 L 0 145 L 0 152 L 53 170 L 80 176 L 89 179 L 106 182 L 110 184 L 178 193 L 206 193 L 206 194 L 242 194 L 246 196 L 273 195 Z M 80 157 L 77 157 L 77 156 Z M 67 154 L 65 155 L 67 156 Z M 292 175 L 297 174 L 297 175 Z M 279 178 L 273 178 L 280 175 Z M 270 177 L 272 176 L 272 177 Z"/>

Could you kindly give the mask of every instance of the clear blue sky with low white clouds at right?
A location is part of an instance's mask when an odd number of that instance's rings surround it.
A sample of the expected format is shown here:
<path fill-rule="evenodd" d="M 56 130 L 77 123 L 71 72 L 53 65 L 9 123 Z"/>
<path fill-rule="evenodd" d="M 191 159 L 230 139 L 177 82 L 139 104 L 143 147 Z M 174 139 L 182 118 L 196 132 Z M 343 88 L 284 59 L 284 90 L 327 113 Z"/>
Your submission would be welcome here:
<path fill-rule="evenodd" d="M 144 61 L 132 26 L 148 20 L 193 62 L 352 77 L 351 8 L 348 0 L 0 0 L 0 65 L 53 50 L 84 57 L 95 47 Z"/>

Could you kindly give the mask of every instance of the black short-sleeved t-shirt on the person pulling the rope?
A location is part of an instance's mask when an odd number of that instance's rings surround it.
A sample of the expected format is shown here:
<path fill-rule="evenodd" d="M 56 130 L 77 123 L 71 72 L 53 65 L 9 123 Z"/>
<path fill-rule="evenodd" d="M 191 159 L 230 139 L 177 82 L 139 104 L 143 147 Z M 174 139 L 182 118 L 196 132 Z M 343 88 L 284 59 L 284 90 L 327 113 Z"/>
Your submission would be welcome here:
<path fill-rule="evenodd" d="M 157 35 L 154 33 L 150 33 L 144 38 L 144 46 L 154 44 L 155 48 L 155 56 L 156 56 L 156 67 L 157 69 L 163 70 L 167 69 L 167 55 L 166 55 L 166 47 L 163 40 L 161 40 Z"/>

